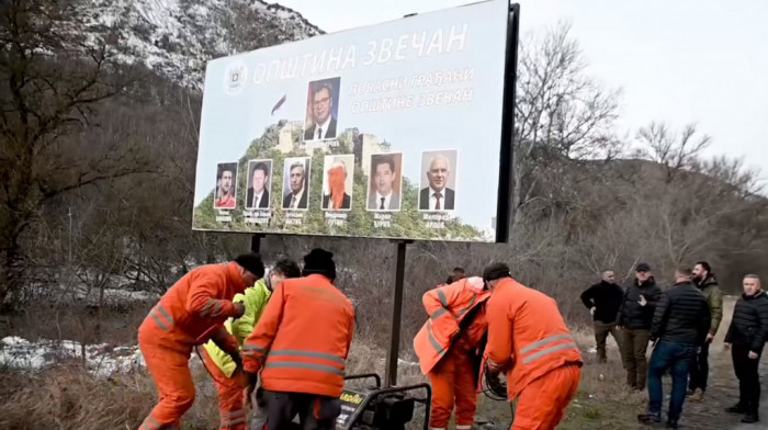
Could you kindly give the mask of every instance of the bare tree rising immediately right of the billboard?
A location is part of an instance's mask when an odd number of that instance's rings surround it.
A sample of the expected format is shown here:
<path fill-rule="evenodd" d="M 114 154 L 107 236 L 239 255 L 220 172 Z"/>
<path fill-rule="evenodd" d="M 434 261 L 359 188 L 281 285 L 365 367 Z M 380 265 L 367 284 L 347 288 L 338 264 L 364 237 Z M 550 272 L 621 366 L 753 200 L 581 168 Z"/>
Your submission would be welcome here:
<path fill-rule="evenodd" d="M 518 67 L 512 204 L 515 224 L 549 169 L 562 159 L 611 159 L 621 150 L 613 135 L 618 90 L 608 91 L 586 71 L 569 25 L 521 45 Z"/>

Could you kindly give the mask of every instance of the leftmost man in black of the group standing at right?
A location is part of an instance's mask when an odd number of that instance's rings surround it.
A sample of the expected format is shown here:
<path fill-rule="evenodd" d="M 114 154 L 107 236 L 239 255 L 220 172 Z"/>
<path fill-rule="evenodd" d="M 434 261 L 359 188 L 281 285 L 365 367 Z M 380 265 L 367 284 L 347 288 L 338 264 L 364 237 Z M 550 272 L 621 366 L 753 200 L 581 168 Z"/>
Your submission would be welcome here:
<path fill-rule="evenodd" d="M 615 284 L 615 275 L 610 270 L 602 272 L 602 281 L 599 284 L 595 284 L 581 293 L 581 302 L 592 314 L 592 320 L 595 321 L 597 359 L 600 363 L 608 361 L 606 357 L 608 333 L 613 336 L 613 340 L 621 348 L 615 319 L 623 297 L 624 290 Z"/>

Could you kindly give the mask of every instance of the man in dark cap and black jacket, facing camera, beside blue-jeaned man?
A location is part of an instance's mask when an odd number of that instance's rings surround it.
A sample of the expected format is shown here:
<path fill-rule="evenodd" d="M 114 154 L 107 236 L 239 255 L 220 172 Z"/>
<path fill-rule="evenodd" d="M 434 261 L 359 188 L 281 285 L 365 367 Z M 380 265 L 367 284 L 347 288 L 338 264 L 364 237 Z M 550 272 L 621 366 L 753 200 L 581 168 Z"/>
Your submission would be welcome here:
<path fill-rule="evenodd" d="M 622 340 L 619 344 L 626 369 L 626 385 L 632 389 L 643 391 L 647 377 L 645 353 L 648 348 L 651 321 L 656 304 L 662 297 L 662 290 L 656 286 L 648 264 L 637 264 L 635 276 L 624 292 L 617 319 L 621 329 Z"/>

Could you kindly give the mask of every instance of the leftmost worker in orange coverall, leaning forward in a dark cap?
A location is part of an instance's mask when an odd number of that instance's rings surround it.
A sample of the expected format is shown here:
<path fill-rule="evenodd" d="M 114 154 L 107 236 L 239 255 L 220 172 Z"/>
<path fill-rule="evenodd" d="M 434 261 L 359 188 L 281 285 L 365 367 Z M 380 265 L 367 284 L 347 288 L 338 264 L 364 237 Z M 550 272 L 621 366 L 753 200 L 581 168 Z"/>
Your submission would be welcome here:
<path fill-rule="evenodd" d="M 139 430 L 181 426 L 194 403 L 189 367 L 193 347 L 213 340 L 241 366 L 239 344 L 224 321 L 242 315 L 245 305 L 233 303 L 233 297 L 263 275 L 259 254 L 246 253 L 228 263 L 192 269 L 160 297 L 138 328 L 138 346 L 160 397 Z"/>

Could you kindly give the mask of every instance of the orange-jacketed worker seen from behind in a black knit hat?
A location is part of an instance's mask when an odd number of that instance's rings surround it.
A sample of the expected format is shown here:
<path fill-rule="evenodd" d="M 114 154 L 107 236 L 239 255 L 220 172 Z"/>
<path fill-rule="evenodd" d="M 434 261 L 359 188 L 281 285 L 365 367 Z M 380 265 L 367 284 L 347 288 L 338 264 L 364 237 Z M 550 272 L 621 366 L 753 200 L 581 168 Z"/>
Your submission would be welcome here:
<path fill-rule="evenodd" d="M 336 428 L 354 313 L 332 284 L 332 257 L 319 248 L 306 254 L 303 276 L 278 285 L 242 344 L 247 395 L 261 370 L 268 430 L 293 428 L 295 415 L 302 429 Z"/>

